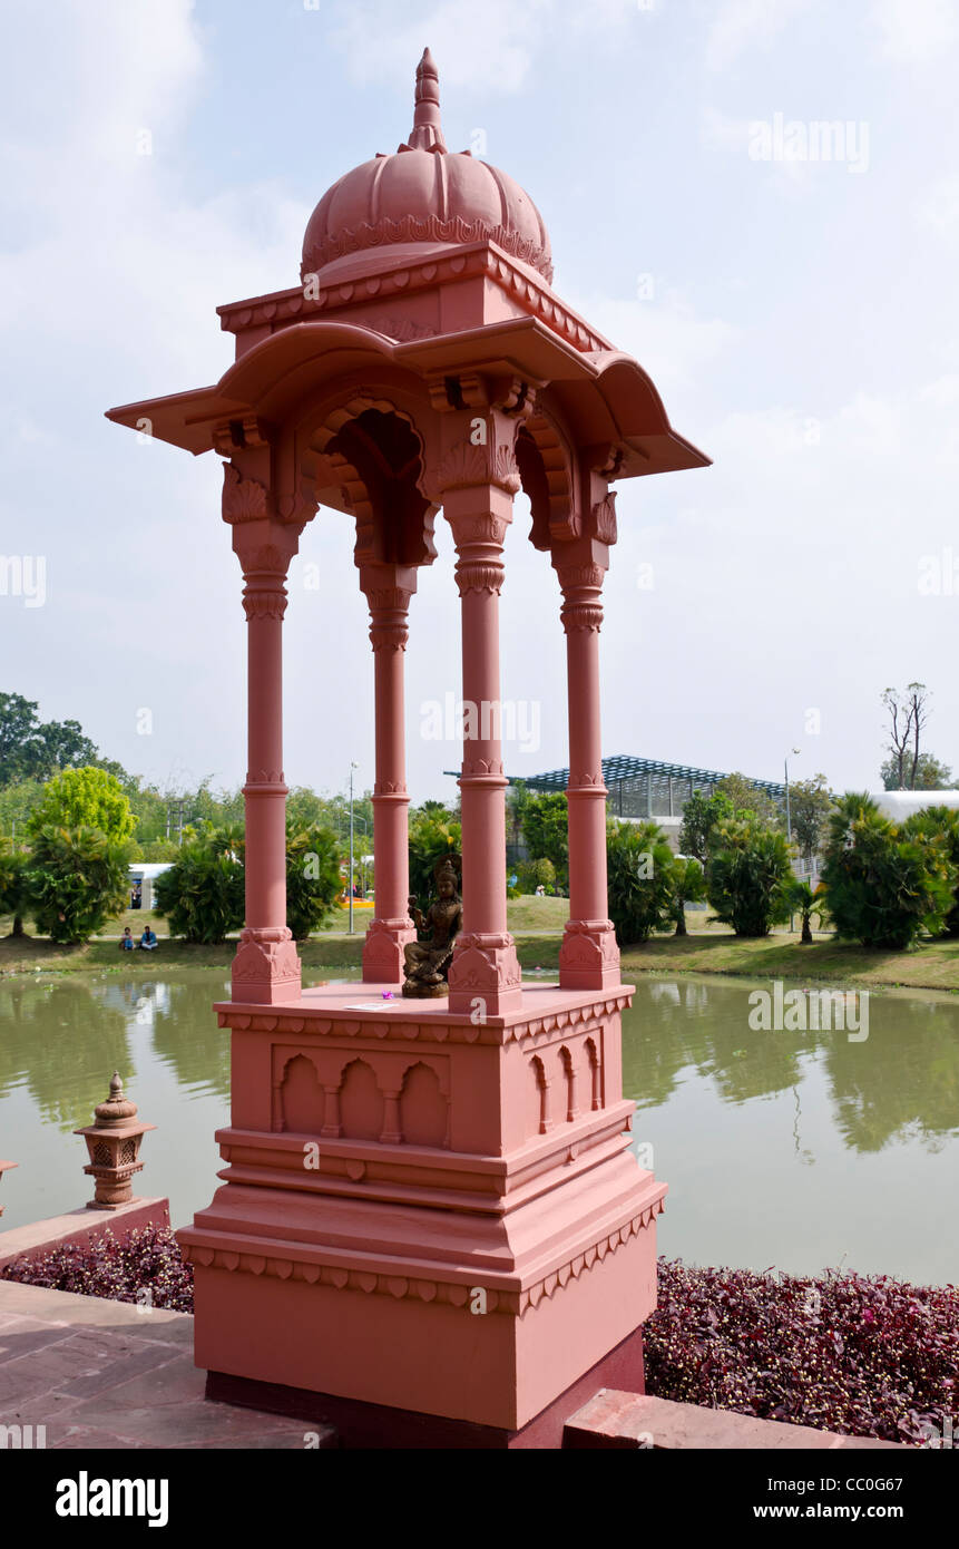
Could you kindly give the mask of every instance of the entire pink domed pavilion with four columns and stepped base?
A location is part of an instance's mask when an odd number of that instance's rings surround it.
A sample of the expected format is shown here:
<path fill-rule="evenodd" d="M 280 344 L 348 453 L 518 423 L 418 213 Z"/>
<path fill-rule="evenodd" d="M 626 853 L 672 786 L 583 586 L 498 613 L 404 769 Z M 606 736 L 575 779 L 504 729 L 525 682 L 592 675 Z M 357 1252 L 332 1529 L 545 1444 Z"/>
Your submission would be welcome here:
<path fill-rule="evenodd" d="M 197 1363 L 211 1396 L 332 1419 L 353 1445 L 555 1447 L 596 1388 L 643 1386 L 666 1188 L 627 1149 L 621 1094 L 632 991 L 606 898 L 601 598 L 610 485 L 708 459 L 550 280 L 530 197 L 448 150 L 426 51 L 409 139 L 324 194 L 301 283 L 218 308 L 235 336 L 222 380 L 108 415 L 225 459 L 248 620 L 246 926 L 232 999 L 217 1005 L 231 1123 L 217 1135 L 223 1183 L 180 1233 Z M 499 705 L 504 538 L 521 488 L 530 541 L 556 573 L 558 644 L 565 634 L 559 984 L 522 982 L 507 928 L 493 714 L 463 744 L 449 994 L 403 999 L 407 610 L 442 510 L 462 697 Z M 376 895 L 363 982 L 304 990 L 285 917 L 282 629 L 287 570 L 321 507 L 355 519 L 370 612 Z"/>

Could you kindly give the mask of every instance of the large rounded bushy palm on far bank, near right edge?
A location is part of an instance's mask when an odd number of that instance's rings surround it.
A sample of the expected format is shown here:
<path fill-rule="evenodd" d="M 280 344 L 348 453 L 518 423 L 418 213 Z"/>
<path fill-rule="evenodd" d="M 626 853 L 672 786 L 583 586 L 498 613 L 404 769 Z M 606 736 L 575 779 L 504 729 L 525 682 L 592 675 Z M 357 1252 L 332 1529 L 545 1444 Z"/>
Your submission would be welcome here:
<path fill-rule="evenodd" d="M 868 795 L 837 801 L 824 857 L 826 903 L 844 940 L 902 951 L 920 931 L 942 932 L 956 884 L 944 846 L 905 835 Z"/>

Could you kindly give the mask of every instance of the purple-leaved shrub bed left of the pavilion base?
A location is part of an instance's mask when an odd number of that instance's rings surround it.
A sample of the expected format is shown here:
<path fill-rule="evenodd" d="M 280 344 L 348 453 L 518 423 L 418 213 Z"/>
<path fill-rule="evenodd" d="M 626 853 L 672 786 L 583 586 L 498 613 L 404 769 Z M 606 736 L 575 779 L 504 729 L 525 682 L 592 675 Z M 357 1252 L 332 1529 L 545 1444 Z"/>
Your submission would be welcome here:
<path fill-rule="evenodd" d="M 107 1227 L 95 1242 L 65 1244 L 33 1258 L 15 1259 L 0 1279 L 23 1286 L 73 1290 L 81 1297 L 136 1301 L 150 1292 L 153 1307 L 194 1310 L 194 1272 L 184 1262 L 169 1227 L 143 1227 L 115 1238 Z"/>

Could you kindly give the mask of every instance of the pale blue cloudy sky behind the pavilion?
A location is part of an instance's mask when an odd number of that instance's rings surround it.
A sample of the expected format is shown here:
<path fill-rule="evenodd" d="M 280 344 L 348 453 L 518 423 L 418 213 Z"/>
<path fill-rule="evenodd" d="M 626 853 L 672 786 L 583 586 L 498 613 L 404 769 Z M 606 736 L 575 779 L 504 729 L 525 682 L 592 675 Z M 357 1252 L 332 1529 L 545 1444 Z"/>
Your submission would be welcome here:
<path fill-rule="evenodd" d="M 956 3 L 8 0 L 5 33 L 2 689 L 163 787 L 243 779 L 220 460 L 104 410 L 222 375 L 215 307 L 297 283 L 325 189 L 407 136 L 429 45 L 449 147 L 530 192 L 558 293 L 713 459 L 618 485 L 604 753 L 762 779 L 789 754 L 875 788 L 882 691 L 922 680 L 959 776 Z M 350 525 L 304 533 L 285 624 L 287 781 L 330 792 L 350 762 L 373 782 Z M 527 533 L 519 497 L 519 776 L 567 762 L 559 595 Z M 442 517 L 437 545 L 411 606 L 415 801 L 452 796 L 459 762 L 435 736 L 460 694 Z"/>

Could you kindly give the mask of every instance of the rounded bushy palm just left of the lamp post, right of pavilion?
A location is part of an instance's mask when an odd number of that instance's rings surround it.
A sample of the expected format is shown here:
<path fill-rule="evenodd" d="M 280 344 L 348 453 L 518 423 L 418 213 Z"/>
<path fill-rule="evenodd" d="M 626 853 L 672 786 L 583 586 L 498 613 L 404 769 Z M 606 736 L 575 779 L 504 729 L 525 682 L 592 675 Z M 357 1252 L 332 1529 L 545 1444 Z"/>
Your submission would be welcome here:
<path fill-rule="evenodd" d="M 789 919 L 790 847 L 779 829 L 739 812 L 713 835 L 706 895 L 717 920 L 736 936 L 768 936 Z"/>

